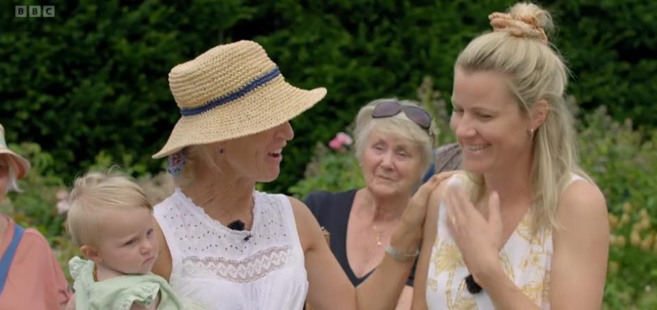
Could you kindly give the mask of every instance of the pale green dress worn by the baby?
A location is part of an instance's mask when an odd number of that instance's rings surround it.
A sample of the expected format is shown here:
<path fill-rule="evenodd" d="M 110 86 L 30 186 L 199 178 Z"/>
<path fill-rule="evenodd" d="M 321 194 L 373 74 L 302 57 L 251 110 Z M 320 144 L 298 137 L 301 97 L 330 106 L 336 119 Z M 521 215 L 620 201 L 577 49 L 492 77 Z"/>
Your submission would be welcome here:
<path fill-rule="evenodd" d="M 69 261 L 74 278 L 76 310 L 129 310 L 133 303 L 149 307 L 160 293 L 158 310 L 201 310 L 193 302 L 176 298 L 169 283 L 155 274 L 127 274 L 93 281 L 93 262 L 74 257 Z"/>

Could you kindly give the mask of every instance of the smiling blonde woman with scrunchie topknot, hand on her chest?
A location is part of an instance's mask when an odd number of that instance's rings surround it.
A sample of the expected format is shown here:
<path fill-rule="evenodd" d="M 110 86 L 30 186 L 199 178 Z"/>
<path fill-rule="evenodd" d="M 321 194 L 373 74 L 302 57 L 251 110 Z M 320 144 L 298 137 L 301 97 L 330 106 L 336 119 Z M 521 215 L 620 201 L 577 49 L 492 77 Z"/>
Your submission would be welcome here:
<path fill-rule="evenodd" d="M 456 60 L 467 174 L 430 198 L 413 309 L 600 309 L 607 208 L 578 166 L 550 14 L 517 3 L 489 19 Z"/>

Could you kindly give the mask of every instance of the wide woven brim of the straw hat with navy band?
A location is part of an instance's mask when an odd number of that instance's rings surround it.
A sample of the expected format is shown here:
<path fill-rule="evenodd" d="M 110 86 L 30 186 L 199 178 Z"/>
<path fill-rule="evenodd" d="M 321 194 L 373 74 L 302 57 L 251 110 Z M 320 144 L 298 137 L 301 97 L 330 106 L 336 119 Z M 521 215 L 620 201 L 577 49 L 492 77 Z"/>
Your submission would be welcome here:
<path fill-rule="evenodd" d="M 168 156 L 183 147 L 248 136 L 279 126 L 308 110 L 326 96 L 326 88 L 306 91 L 276 78 L 240 99 L 181 117 L 162 150 L 153 158 Z"/>

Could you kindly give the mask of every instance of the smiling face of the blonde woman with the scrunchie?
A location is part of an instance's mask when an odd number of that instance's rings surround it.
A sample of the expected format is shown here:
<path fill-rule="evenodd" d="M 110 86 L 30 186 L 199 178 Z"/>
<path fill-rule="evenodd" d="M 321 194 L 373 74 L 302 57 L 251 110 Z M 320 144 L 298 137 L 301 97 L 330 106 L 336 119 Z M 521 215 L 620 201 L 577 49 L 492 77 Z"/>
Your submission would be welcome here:
<path fill-rule="evenodd" d="M 506 82 L 500 73 L 455 70 L 449 125 L 468 171 L 504 170 L 531 153 L 530 121 Z"/>

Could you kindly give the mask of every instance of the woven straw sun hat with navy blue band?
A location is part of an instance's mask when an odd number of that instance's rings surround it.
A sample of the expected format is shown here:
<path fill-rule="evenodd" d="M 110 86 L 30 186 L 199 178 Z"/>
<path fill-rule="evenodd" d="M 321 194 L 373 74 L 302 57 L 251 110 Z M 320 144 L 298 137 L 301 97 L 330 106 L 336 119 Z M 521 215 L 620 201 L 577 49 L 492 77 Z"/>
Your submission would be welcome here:
<path fill-rule="evenodd" d="M 177 65 L 169 87 L 181 118 L 153 158 L 274 128 L 326 95 L 326 88 L 305 91 L 285 82 L 265 49 L 252 41 L 219 45 Z"/>

